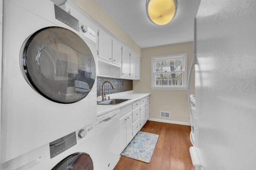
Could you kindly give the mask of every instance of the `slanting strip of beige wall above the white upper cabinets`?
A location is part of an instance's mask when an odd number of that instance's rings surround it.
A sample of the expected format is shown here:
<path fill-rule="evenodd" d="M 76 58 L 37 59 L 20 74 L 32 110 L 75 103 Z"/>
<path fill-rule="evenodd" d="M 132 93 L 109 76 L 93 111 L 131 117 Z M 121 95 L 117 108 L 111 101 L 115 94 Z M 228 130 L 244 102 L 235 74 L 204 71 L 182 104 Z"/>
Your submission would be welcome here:
<path fill-rule="evenodd" d="M 141 56 L 141 48 L 112 19 L 112 17 L 95 0 L 77 0 L 75 4 L 96 22 Z"/>

